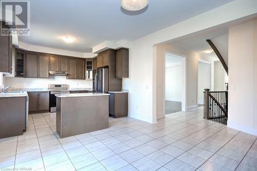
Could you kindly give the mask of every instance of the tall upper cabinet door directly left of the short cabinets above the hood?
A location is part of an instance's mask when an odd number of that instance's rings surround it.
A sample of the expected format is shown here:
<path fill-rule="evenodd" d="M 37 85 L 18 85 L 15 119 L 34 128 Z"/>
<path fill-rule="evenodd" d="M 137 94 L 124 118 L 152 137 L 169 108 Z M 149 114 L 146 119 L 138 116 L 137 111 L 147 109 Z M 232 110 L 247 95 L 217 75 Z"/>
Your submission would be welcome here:
<path fill-rule="evenodd" d="M 49 78 L 49 56 L 39 55 L 39 78 Z"/>

